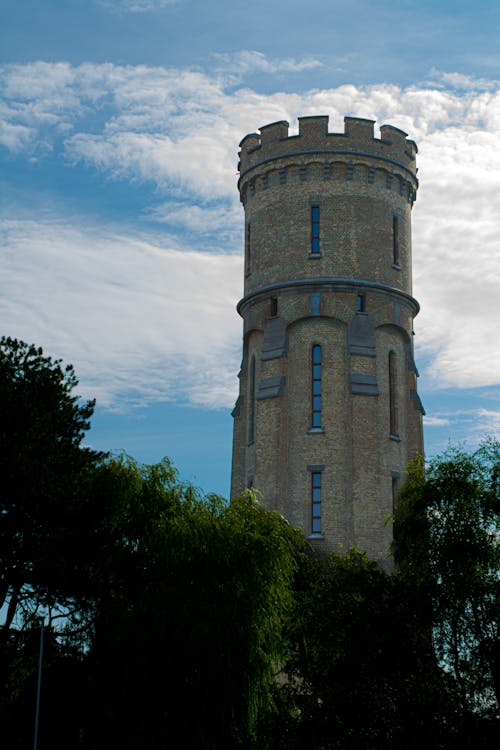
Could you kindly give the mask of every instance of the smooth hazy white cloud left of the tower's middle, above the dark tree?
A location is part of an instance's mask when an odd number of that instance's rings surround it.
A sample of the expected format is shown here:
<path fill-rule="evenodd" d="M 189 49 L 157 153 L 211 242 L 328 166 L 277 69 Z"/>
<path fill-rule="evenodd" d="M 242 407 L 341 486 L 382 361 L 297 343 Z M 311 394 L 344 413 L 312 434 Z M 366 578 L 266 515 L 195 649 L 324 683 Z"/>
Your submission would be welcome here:
<path fill-rule="evenodd" d="M 71 224 L 3 223 L 3 330 L 72 362 L 101 406 L 231 405 L 240 258 Z"/>

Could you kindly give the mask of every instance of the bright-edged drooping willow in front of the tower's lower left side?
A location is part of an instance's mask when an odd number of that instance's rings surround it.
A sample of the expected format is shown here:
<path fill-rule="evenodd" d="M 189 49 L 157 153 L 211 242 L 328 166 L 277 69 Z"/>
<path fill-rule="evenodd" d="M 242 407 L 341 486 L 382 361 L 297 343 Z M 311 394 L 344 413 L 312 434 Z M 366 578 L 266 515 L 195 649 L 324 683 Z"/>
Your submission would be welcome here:
<path fill-rule="evenodd" d="M 168 462 L 109 460 L 94 491 L 115 511 L 89 655 L 92 742 L 157 747 L 175 727 L 184 747 L 250 747 L 283 657 L 296 533 L 250 494 L 201 496 Z"/>

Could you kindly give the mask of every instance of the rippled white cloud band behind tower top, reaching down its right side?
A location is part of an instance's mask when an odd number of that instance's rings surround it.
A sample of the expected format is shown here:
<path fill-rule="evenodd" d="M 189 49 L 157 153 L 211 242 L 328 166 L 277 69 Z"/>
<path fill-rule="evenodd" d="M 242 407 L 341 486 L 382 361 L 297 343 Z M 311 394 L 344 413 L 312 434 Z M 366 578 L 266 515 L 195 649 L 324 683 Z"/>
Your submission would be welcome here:
<path fill-rule="evenodd" d="M 239 65 L 242 74 L 252 66 L 273 72 L 307 62 L 273 61 L 252 51 L 221 59 Z M 430 353 L 425 375 L 435 387 L 498 383 L 496 82 L 474 86 L 446 73 L 436 74 L 438 85 L 421 87 L 344 85 L 262 94 L 228 87 L 217 74 L 160 67 L 37 62 L 9 66 L 4 75 L 8 148 L 27 154 L 38 148 L 43 155 L 43 144 L 63 153 L 68 166 L 151 182 L 156 205 L 149 217 L 171 231 L 187 231 L 194 246 L 217 229 L 224 247 L 241 236 L 237 144 L 260 125 L 288 119 L 296 128 L 297 115 L 321 113 L 330 115 L 330 130 L 342 130 L 345 114 L 403 128 L 419 146 L 421 188 L 413 219 L 414 291 L 422 307 L 417 355 L 419 349 Z M 224 325 L 221 320 L 221 330 Z"/>

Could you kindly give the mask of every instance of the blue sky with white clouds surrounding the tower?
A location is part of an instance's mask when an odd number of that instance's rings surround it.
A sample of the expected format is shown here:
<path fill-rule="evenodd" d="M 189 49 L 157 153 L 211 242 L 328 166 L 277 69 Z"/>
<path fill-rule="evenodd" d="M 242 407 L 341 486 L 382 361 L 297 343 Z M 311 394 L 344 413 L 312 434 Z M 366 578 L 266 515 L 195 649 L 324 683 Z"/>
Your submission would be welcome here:
<path fill-rule="evenodd" d="M 500 428 L 498 0 L 1 0 L 0 332 L 71 362 L 87 443 L 229 494 L 238 143 L 344 115 L 419 147 L 427 456 Z"/>

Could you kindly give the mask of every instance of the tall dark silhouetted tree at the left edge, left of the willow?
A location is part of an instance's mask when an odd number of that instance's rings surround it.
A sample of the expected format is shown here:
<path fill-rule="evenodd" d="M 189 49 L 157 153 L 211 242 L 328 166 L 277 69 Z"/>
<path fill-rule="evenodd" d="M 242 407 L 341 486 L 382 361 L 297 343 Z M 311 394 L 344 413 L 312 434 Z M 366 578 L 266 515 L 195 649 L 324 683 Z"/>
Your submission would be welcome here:
<path fill-rule="evenodd" d="M 83 448 L 94 402 L 80 402 L 71 365 L 0 339 L 0 607 L 4 627 L 40 605 L 67 604 L 75 586 L 82 476 L 99 454 Z"/>

